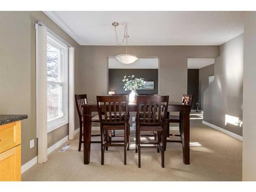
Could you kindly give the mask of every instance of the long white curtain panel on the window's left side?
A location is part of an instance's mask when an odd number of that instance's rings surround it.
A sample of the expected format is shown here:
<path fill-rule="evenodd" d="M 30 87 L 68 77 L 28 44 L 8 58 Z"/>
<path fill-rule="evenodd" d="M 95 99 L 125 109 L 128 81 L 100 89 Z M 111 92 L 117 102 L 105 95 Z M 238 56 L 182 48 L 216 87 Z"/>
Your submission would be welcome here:
<path fill-rule="evenodd" d="M 47 157 L 47 29 L 36 24 L 36 125 L 38 137 L 37 162 Z"/>

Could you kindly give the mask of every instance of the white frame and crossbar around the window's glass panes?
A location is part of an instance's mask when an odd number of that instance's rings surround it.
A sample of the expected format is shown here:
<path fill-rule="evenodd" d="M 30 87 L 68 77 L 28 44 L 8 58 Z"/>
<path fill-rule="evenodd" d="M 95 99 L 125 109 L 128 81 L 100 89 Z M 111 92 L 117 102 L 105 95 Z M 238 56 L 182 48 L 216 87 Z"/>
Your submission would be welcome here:
<path fill-rule="evenodd" d="M 57 37 L 47 32 L 47 44 L 57 46 L 63 49 L 62 52 L 62 83 L 47 81 L 47 84 L 61 84 L 62 85 L 62 111 L 63 116 L 47 121 L 47 133 L 52 132 L 59 127 L 69 123 L 69 47 L 60 41 Z"/>

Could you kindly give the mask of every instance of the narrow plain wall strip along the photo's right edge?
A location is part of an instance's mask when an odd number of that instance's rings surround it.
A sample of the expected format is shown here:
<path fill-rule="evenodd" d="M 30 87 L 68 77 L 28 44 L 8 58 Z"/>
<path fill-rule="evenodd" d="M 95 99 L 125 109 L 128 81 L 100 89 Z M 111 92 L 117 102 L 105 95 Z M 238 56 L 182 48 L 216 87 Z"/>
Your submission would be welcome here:
<path fill-rule="evenodd" d="M 256 12 L 244 17 L 243 181 L 256 181 Z"/>

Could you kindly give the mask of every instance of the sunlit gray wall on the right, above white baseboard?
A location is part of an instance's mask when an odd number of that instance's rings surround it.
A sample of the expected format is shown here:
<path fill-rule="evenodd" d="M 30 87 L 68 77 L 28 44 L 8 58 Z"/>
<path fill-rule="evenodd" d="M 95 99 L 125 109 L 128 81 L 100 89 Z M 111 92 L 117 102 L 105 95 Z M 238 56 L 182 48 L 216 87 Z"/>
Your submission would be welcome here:
<path fill-rule="evenodd" d="M 204 121 L 242 136 L 242 127 L 227 123 L 225 115 L 243 119 L 243 34 L 220 46 L 215 80 L 204 92 Z"/>

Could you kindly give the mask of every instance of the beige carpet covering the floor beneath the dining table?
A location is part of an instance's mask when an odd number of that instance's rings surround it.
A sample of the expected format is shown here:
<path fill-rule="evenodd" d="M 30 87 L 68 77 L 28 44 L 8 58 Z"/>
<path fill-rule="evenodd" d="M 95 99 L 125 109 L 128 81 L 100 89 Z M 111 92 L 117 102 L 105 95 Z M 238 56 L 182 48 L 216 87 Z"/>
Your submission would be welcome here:
<path fill-rule="evenodd" d="M 83 164 L 78 152 L 78 135 L 68 141 L 66 152 L 55 150 L 44 164 L 36 164 L 22 175 L 23 181 L 241 181 L 242 142 L 211 129 L 202 120 L 190 120 L 190 165 L 182 159 L 181 143 L 167 143 L 165 168 L 156 150 L 142 149 L 141 168 L 138 154 L 127 152 L 123 165 L 123 148 L 110 147 L 105 164 L 100 164 L 100 145 L 92 144 L 91 162 Z M 150 138 L 145 138 L 150 139 Z"/>

